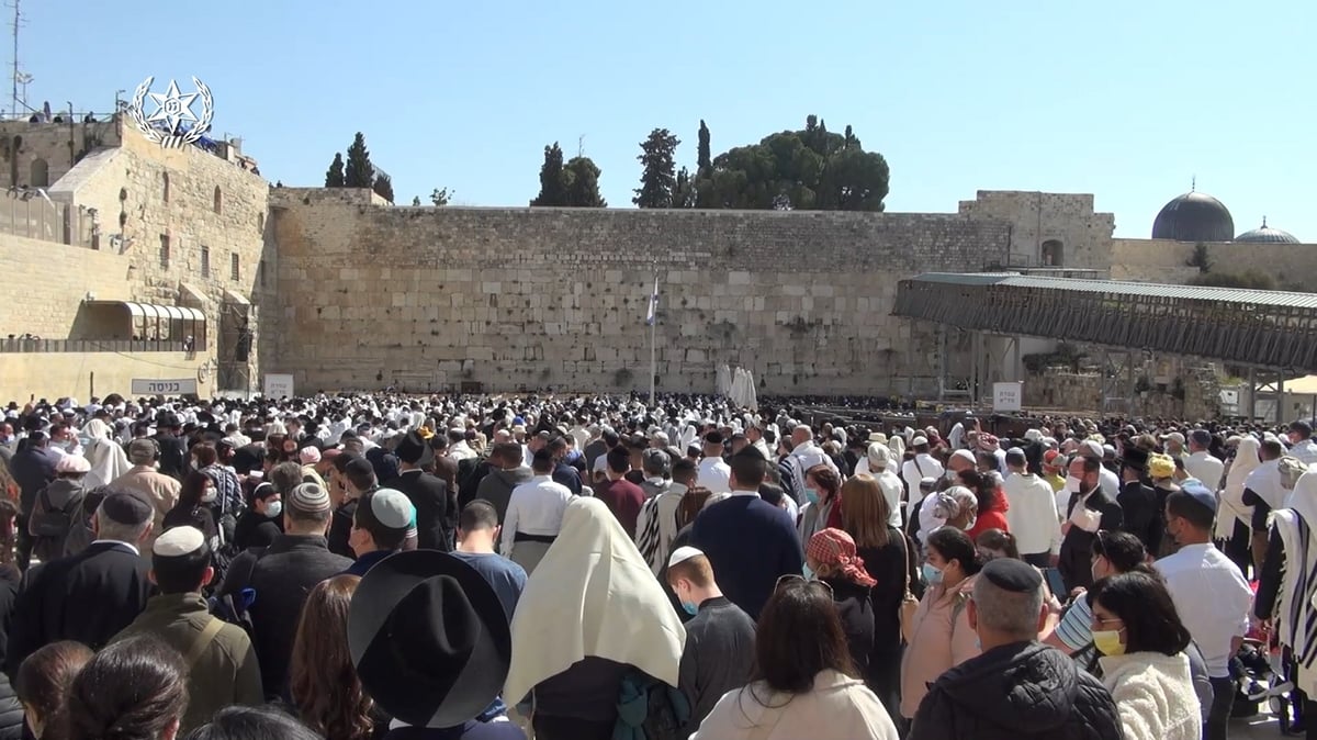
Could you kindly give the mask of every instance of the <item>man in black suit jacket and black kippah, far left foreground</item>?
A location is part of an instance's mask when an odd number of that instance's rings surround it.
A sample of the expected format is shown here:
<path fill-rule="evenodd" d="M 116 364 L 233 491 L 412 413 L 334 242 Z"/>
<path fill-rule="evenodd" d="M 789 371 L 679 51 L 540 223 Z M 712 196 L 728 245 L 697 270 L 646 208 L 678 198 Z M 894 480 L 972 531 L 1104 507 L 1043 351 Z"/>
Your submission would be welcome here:
<path fill-rule="evenodd" d="M 11 678 L 25 657 L 59 640 L 100 649 L 146 608 L 150 568 L 141 557 L 154 506 L 137 491 L 111 491 L 92 516 L 83 552 L 28 573 L 14 603 L 5 653 Z"/>

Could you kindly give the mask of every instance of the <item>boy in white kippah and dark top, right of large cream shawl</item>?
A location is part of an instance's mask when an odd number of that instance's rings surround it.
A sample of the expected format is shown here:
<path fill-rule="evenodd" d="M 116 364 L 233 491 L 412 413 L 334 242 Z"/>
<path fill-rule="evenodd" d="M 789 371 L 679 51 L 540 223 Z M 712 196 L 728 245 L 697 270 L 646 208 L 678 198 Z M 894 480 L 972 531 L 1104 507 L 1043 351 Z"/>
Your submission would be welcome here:
<path fill-rule="evenodd" d="M 677 689 L 690 702 L 690 719 L 677 732 L 686 737 L 699 728 L 718 699 L 745 685 L 755 656 L 755 620 L 718 589 L 705 553 L 677 548 L 668 560 L 668 586 L 693 615 L 686 623 Z"/>

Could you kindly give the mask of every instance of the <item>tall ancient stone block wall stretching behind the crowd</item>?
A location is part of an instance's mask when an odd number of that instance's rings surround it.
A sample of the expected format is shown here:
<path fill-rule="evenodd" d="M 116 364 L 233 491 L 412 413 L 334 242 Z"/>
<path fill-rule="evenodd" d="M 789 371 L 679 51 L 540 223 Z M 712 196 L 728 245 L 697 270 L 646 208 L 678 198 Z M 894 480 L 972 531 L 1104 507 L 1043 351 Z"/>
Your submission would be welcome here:
<path fill-rule="evenodd" d="M 956 215 L 369 203 L 271 191 L 279 313 L 263 330 L 270 370 L 300 388 L 644 390 L 657 262 L 662 390 L 712 391 L 724 362 L 761 392 L 927 390 L 935 342 L 890 316 L 897 280 L 981 269 L 1006 238 Z"/>

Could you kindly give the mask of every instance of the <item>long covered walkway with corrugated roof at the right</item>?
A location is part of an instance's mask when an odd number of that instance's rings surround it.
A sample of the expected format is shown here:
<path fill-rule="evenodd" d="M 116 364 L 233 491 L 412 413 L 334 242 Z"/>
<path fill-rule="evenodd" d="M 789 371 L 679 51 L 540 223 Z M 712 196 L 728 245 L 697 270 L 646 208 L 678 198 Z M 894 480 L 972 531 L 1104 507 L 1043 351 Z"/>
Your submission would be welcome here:
<path fill-rule="evenodd" d="M 893 313 L 994 334 L 1317 371 L 1317 294 L 926 273 L 901 280 Z"/>

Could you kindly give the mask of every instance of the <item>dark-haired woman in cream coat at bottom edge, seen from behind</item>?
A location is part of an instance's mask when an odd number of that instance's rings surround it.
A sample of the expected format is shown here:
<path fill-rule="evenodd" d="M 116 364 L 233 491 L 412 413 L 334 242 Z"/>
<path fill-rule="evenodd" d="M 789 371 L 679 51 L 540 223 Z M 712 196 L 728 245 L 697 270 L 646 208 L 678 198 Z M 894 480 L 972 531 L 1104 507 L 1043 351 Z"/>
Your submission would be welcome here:
<path fill-rule="evenodd" d="M 785 575 L 764 606 L 755 669 L 728 691 L 691 740 L 894 740 L 882 703 L 857 678 L 832 594 L 818 581 Z"/>

